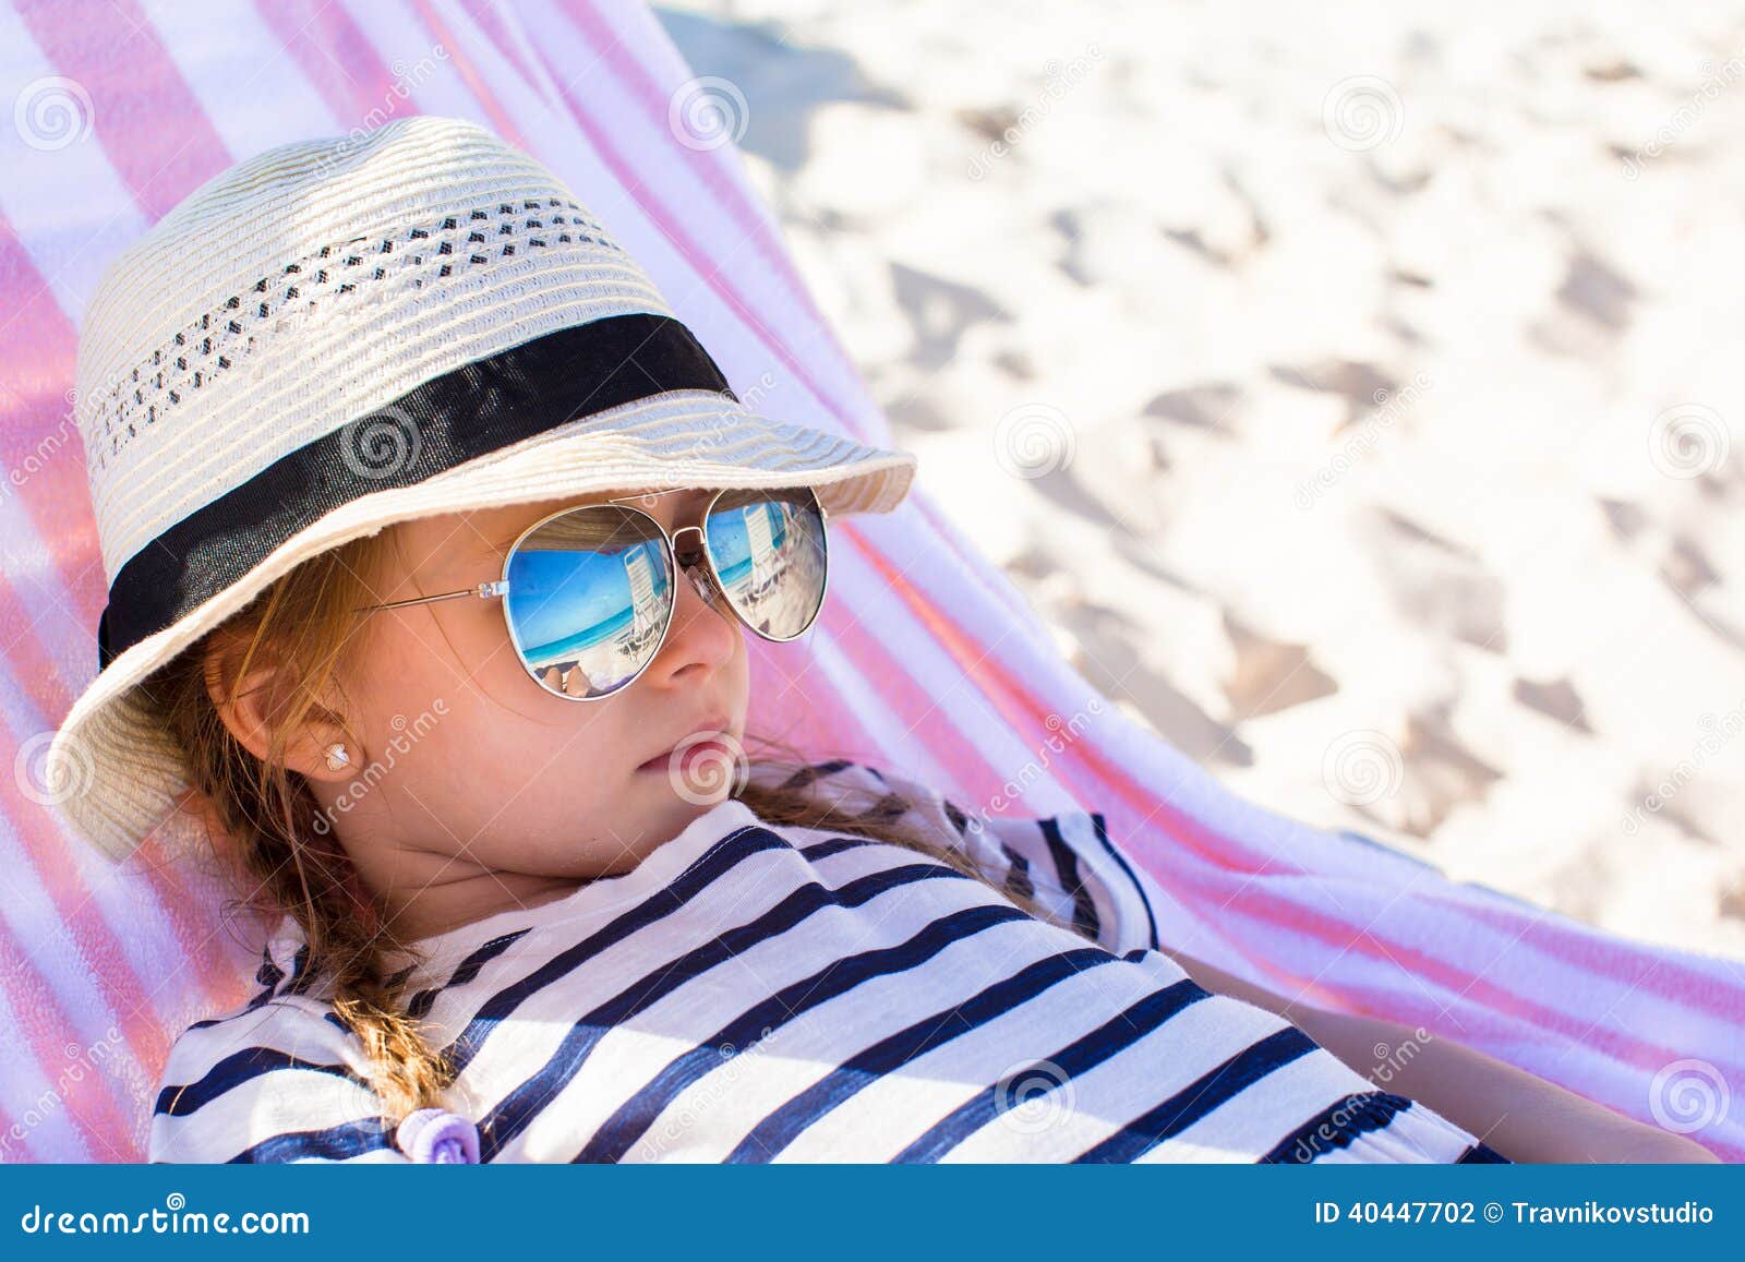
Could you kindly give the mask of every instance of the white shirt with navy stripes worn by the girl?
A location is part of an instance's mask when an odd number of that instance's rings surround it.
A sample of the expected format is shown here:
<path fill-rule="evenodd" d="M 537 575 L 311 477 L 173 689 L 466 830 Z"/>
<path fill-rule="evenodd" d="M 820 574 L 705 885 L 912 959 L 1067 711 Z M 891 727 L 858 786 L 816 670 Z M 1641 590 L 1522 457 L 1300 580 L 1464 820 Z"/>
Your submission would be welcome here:
<path fill-rule="evenodd" d="M 410 1011 L 480 1161 L 1501 1161 L 1188 979 L 1099 813 L 972 822 L 845 761 L 796 780 L 895 789 L 1042 915 L 721 801 L 630 873 L 422 939 Z M 148 1161 L 407 1161 L 305 962 L 286 918 L 262 990 L 176 1039 Z"/>

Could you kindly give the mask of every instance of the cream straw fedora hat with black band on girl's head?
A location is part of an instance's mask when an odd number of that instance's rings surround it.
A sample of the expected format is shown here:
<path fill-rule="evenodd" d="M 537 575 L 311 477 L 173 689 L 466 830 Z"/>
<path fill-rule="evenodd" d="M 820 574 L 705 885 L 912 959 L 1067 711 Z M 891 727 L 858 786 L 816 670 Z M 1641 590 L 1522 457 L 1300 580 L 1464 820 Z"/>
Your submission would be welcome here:
<path fill-rule="evenodd" d="M 916 463 L 747 408 L 550 169 L 429 115 L 188 194 L 103 274 L 75 398 L 108 604 L 44 799 L 115 859 L 187 789 L 141 681 L 309 557 L 606 489 L 883 513 Z"/>

